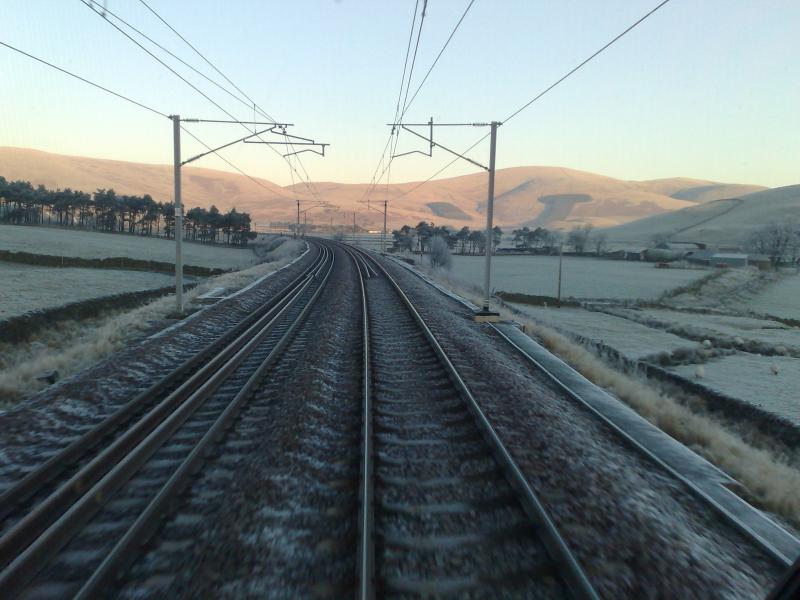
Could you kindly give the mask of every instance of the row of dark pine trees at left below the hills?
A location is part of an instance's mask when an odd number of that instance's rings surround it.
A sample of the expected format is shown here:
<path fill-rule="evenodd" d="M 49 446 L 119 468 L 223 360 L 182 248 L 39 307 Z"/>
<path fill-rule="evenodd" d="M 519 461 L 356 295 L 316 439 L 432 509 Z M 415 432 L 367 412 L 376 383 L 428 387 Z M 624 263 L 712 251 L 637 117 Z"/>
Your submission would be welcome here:
<path fill-rule="evenodd" d="M 29 181 L 6 181 L 0 176 L 0 222 L 14 225 L 60 225 L 145 236 L 175 237 L 175 205 L 143 196 L 98 189 L 48 190 Z M 184 215 L 183 237 L 203 243 L 244 246 L 255 239 L 250 215 L 235 208 L 222 213 L 216 206 L 192 208 Z"/>

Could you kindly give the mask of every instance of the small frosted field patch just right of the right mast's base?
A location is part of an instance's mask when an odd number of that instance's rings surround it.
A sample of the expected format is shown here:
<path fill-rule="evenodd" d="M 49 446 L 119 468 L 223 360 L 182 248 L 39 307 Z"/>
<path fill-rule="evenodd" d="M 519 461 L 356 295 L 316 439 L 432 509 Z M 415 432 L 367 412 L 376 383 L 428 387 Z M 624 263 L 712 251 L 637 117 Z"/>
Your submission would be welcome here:
<path fill-rule="evenodd" d="M 601 342 L 634 360 L 662 351 L 672 352 L 678 348 L 697 346 L 696 342 L 677 335 L 605 313 L 582 308 L 541 308 L 524 304 L 513 306 L 540 323 Z"/>

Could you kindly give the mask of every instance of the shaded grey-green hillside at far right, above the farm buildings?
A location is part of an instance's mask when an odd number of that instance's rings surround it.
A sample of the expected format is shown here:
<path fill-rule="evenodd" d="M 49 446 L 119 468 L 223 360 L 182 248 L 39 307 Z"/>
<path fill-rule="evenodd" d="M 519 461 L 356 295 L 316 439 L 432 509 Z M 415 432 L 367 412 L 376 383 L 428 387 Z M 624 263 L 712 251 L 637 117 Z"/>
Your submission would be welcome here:
<path fill-rule="evenodd" d="M 662 234 L 672 241 L 739 244 L 754 229 L 787 220 L 800 223 L 800 185 L 715 200 L 612 227 L 606 233 L 614 242 L 645 245 Z"/>

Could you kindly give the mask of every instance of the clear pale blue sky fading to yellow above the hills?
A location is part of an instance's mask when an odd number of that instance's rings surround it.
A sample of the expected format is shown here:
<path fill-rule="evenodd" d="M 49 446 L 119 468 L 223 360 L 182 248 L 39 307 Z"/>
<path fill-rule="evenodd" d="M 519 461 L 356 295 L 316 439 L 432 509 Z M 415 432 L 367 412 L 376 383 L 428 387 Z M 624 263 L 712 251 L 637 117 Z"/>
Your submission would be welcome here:
<path fill-rule="evenodd" d="M 300 173 L 305 169 L 313 181 L 370 181 L 388 139 L 417 0 L 147 1 L 269 115 L 293 123 L 289 133 L 331 144 L 325 157 L 303 154 L 302 167 L 295 163 Z M 81 0 L 2 4 L 0 41 L 165 114 L 228 118 Z M 139 0 L 95 2 L 103 4 L 241 97 Z M 428 0 L 412 94 L 468 4 Z M 404 120 L 503 121 L 656 4 L 475 0 Z M 501 126 L 497 167 L 563 166 L 633 180 L 800 183 L 799 25 L 796 0 L 671 0 Z M 253 119 L 248 101 L 153 50 L 237 119 Z M 166 118 L 4 47 L 0 73 L 0 146 L 171 163 Z M 186 127 L 210 145 L 246 135 L 237 124 Z M 442 127 L 434 135 L 461 151 L 485 133 Z M 203 151 L 186 136 L 182 145 L 184 157 Z M 397 152 L 426 149 L 403 134 Z M 487 164 L 488 152 L 484 142 L 470 157 Z M 236 144 L 221 153 L 252 176 L 281 185 L 297 179 L 266 146 Z M 388 176 L 423 180 L 450 160 L 440 149 L 432 157 L 399 157 Z M 214 156 L 193 165 L 231 170 Z M 458 161 L 440 177 L 475 171 Z"/>

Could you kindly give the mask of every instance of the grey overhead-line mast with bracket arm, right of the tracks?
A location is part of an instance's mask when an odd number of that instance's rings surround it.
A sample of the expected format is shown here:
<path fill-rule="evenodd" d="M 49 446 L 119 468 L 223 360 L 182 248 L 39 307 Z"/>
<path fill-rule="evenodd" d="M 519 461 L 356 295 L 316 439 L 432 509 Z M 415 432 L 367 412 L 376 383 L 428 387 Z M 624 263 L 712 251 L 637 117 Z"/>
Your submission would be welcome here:
<path fill-rule="evenodd" d="M 475 313 L 475 320 L 478 322 L 495 322 L 500 319 L 500 313 L 491 310 L 491 294 L 492 294 L 492 242 L 494 239 L 494 227 L 493 227 L 493 216 L 494 216 L 494 175 L 495 175 L 495 157 L 497 153 L 497 128 L 502 125 L 499 121 L 492 121 L 491 123 L 434 123 L 433 117 L 427 123 L 388 123 L 388 125 L 392 128 L 392 133 L 394 133 L 396 128 L 403 129 L 412 135 L 417 136 L 428 142 L 428 151 L 422 152 L 421 150 L 412 150 L 411 152 L 403 152 L 401 154 L 395 154 L 391 158 L 397 158 L 398 156 L 405 156 L 407 154 L 422 154 L 424 156 L 433 156 L 433 149 L 434 148 L 441 148 L 442 150 L 457 156 L 458 158 L 462 158 L 467 162 L 472 163 L 475 166 L 488 171 L 489 173 L 489 190 L 488 190 L 488 201 L 486 204 L 486 261 L 484 263 L 484 273 L 483 273 L 483 291 L 484 291 L 484 299 L 483 299 L 483 307 L 481 310 Z M 490 136 L 491 136 L 491 145 L 489 149 L 489 166 L 486 167 L 479 162 L 472 160 L 471 158 L 464 156 L 459 152 L 455 152 L 450 148 L 439 144 L 438 142 L 433 141 L 433 128 L 434 127 L 490 127 Z M 428 137 L 410 129 L 410 127 L 427 127 L 429 129 Z M 386 226 L 384 225 L 384 237 L 386 236 Z"/>

